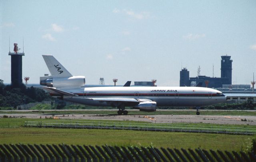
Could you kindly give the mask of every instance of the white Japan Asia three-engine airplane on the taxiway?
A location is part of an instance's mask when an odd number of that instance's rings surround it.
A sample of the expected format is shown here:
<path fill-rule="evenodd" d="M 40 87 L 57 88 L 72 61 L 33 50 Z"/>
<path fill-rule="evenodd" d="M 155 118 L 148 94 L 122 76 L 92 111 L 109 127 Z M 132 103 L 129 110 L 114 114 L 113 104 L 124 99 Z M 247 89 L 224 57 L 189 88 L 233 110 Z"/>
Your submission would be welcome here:
<path fill-rule="evenodd" d="M 61 100 L 90 106 L 118 108 L 118 115 L 127 115 L 125 107 L 140 111 L 156 111 L 158 106 L 196 107 L 226 101 L 218 90 L 203 87 L 92 87 L 84 88 L 84 76 L 72 76 L 52 55 L 42 55 L 51 76 L 40 77 L 40 84 L 50 95 Z M 82 88 L 81 88 L 82 87 Z"/>

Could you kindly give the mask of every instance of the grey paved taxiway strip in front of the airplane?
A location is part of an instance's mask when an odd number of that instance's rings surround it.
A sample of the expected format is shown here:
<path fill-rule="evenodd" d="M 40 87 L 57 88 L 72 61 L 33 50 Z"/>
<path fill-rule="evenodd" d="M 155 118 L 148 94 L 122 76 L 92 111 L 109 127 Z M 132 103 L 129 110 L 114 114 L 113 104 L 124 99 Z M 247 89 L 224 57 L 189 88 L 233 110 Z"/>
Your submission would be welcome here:
<path fill-rule="evenodd" d="M 114 110 L 116 111 L 116 110 Z M 161 110 L 162 111 L 162 110 Z M 23 118 L 50 118 L 54 117 L 47 114 L 0 114 L 11 117 Z M 70 114 L 55 115 L 58 119 L 99 119 L 99 120 L 118 120 L 118 121 L 148 121 L 152 123 L 214 123 L 214 124 L 241 124 L 256 125 L 256 116 L 245 115 L 89 115 L 89 114 Z M 246 121 L 243 121 L 246 119 Z"/>

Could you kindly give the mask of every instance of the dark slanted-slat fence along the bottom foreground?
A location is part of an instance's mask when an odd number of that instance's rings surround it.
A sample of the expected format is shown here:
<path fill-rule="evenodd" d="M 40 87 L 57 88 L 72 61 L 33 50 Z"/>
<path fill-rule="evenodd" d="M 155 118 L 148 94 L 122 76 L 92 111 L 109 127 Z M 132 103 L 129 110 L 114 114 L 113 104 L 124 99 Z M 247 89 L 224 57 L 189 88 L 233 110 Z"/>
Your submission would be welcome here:
<path fill-rule="evenodd" d="M 176 149 L 137 146 L 86 146 L 66 144 L 0 144 L 2 162 L 245 162 L 254 152 Z"/>

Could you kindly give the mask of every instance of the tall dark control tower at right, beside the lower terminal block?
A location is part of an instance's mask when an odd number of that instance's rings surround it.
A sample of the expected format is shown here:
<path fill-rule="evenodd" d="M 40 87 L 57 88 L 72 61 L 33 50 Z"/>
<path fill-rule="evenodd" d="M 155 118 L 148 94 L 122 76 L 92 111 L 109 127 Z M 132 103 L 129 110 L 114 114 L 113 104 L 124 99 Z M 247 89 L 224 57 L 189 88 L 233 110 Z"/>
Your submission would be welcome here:
<path fill-rule="evenodd" d="M 228 78 L 228 84 L 232 84 L 232 62 L 231 56 L 221 56 L 221 78 Z"/>

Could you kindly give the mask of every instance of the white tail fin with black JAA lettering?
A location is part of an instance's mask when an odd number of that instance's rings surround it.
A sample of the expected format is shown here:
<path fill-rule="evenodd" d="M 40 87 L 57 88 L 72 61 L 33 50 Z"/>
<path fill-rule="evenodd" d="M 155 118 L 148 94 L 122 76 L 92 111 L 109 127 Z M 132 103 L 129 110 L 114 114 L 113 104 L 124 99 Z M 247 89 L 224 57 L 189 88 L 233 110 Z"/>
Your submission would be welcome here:
<path fill-rule="evenodd" d="M 72 74 L 60 64 L 52 55 L 42 55 L 44 61 L 51 73 L 55 77 L 72 77 Z"/>

